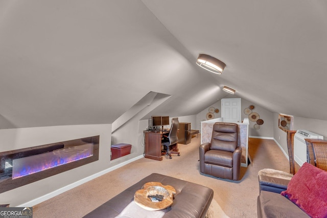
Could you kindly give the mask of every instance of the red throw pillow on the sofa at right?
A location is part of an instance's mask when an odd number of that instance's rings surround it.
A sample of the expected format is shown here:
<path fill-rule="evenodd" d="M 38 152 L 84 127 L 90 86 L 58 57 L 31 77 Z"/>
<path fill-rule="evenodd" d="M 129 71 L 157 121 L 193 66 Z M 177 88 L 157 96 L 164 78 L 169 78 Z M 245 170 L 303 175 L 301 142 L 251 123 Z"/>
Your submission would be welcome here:
<path fill-rule="evenodd" d="M 288 197 L 311 217 L 327 217 L 326 185 L 327 172 L 305 162 L 281 195 Z"/>

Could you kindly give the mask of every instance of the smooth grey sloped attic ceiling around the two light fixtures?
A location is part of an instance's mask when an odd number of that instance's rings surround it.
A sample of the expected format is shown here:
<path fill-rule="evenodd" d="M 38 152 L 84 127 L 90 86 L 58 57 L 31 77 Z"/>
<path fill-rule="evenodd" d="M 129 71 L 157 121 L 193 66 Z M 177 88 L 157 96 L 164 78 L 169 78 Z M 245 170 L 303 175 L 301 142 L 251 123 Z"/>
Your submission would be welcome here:
<path fill-rule="evenodd" d="M 224 63 L 222 75 L 195 64 Z M 150 91 L 155 114 L 237 95 L 327 120 L 325 1 L 0 0 L 0 128 L 108 124 Z"/>

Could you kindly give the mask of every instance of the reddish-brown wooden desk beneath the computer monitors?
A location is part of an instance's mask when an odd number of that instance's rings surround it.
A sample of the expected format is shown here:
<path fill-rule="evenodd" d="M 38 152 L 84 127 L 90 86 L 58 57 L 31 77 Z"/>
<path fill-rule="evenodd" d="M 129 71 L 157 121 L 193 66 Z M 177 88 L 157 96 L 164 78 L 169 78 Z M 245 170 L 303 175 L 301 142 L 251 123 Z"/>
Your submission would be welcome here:
<path fill-rule="evenodd" d="M 145 157 L 153 160 L 162 160 L 161 141 L 169 131 L 148 131 L 145 132 Z M 177 144 L 173 146 L 174 151 L 178 151 Z"/>

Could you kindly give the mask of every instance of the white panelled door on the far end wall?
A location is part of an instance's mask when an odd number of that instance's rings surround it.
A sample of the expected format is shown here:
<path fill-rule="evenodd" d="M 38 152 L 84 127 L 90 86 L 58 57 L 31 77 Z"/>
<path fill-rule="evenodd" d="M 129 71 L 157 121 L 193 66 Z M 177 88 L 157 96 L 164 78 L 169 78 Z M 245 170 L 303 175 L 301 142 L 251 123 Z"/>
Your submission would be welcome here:
<path fill-rule="evenodd" d="M 222 99 L 221 117 L 227 123 L 241 123 L 241 99 Z"/>

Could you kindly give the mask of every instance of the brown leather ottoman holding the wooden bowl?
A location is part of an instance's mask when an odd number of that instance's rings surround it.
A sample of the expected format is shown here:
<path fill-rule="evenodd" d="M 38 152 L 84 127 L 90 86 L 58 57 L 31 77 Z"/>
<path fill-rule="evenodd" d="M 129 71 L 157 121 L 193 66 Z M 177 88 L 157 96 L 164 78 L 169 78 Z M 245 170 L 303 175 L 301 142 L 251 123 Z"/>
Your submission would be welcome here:
<path fill-rule="evenodd" d="M 119 195 L 86 214 L 84 217 L 99 218 L 116 217 L 121 215 L 125 207 L 133 201 L 135 191 L 142 189 L 142 186 L 147 182 L 160 182 L 162 185 L 171 185 L 175 188 L 176 194 L 174 195 L 173 204 L 170 207 L 161 210 L 165 212 L 164 216 L 162 216 L 165 218 L 205 217 L 214 197 L 214 191 L 211 188 L 154 173 L 130 186 Z M 139 209 L 142 208 L 139 207 Z"/>

